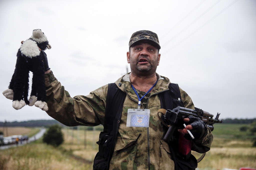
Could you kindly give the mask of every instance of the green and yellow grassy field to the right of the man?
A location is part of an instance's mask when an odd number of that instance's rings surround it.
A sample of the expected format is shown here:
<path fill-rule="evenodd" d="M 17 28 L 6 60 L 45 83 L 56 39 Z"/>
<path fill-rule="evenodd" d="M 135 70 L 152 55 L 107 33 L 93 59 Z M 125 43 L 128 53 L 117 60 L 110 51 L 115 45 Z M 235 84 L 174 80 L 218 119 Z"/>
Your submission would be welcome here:
<path fill-rule="evenodd" d="M 197 169 L 239 169 L 256 168 L 256 147 L 252 147 L 253 138 L 249 132 L 241 132 L 243 124 L 215 124 L 214 140 L 211 150 L 198 163 Z M 196 158 L 201 154 L 193 152 Z"/>

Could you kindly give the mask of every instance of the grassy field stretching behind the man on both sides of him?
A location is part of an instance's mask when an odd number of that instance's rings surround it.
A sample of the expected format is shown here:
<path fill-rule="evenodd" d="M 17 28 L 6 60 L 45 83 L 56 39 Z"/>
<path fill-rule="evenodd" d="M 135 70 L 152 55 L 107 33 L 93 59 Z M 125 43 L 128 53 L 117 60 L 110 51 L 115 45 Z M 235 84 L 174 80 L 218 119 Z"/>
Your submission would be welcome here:
<path fill-rule="evenodd" d="M 256 148 L 249 132 L 241 132 L 240 124 L 217 124 L 211 150 L 198 164 L 198 170 L 256 168 Z M 92 169 L 98 151 L 100 131 L 64 128 L 65 142 L 58 148 L 37 143 L 0 150 L 0 169 Z M 196 158 L 200 154 L 193 153 Z"/>

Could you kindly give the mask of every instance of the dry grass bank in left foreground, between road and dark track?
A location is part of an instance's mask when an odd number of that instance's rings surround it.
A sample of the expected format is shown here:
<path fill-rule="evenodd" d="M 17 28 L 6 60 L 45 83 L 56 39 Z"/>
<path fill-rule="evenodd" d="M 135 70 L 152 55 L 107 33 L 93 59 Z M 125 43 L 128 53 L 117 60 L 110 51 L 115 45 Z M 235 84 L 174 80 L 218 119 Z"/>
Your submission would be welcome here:
<path fill-rule="evenodd" d="M 91 169 L 91 165 L 74 159 L 69 153 L 46 144 L 28 144 L 0 150 L 1 170 L 71 170 Z"/>

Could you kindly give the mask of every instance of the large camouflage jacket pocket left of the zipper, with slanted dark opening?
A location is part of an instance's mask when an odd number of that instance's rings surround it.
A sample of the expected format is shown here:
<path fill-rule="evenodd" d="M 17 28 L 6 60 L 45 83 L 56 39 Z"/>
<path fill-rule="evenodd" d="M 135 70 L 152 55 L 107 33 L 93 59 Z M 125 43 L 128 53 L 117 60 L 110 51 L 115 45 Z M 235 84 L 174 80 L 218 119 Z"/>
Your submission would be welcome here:
<path fill-rule="evenodd" d="M 136 170 L 136 138 L 117 137 L 109 169 Z"/>

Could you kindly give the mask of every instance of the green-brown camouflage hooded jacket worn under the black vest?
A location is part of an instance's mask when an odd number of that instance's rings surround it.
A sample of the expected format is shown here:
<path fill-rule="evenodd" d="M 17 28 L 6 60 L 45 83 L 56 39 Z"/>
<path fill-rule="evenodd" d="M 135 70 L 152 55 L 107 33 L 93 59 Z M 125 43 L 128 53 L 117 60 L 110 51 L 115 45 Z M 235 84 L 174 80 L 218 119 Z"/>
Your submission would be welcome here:
<path fill-rule="evenodd" d="M 174 169 L 168 143 L 163 141 L 165 134 L 163 124 L 158 120 L 157 111 L 161 108 L 157 93 L 168 89 L 169 79 L 157 74 L 158 82 L 142 101 L 141 108 L 150 109 L 148 128 L 126 127 L 127 110 L 138 107 L 138 97 L 131 87 L 130 75 L 126 74 L 115 83 L 127 95 L 119 126 L 115 149 L 109 169 Z M 48 115 L 67 126 L 104 125 L 104 113 L 108 85 L 102 86 L 89 95 L 77 95 L 73 98 L 65 91 L 52 71 L 45 76 Z M 138 91 L 140 97 L 143 92 Z M 188 94 L 180 89 L 185 107 L 194 109 Z M 142 135 L 137 139 L 139 133 Z M 210 149 L 213 136 L 210 130 L 202 140 L 193 143 L 193 150 L 204 153 Z"/>

